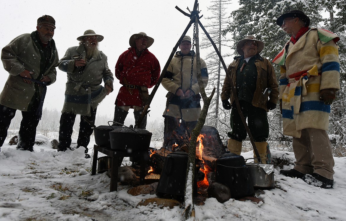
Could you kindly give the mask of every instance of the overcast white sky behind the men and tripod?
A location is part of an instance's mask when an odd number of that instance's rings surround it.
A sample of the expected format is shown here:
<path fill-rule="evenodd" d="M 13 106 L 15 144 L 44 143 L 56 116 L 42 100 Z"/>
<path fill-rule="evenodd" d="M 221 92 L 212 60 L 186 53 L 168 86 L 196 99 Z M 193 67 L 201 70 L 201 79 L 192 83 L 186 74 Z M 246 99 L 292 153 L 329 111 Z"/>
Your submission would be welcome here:
<path fill-rule="evenodd" d="M 193 4 L 194 0 L 2 1 L 0 47 L 6 46 L 13 38 L 22 33 L 31 33 L 36 30 L 37 18 L 42 15 L 50 15 L 56 21 L 53 39 L 56 42 L 59 58 L 65 54 L 67 48 L 78 45 L 77 37 L 83 35 L 85 30 L 92 29 L 97 34 L 104 36 L 99 48 L 108 56 L 109 68 L 114 71 L 119 55 L 129 47 L 129 37 L 134 33 L 143 31 L 155 39 L 149 51 L 157 57 L 162 69 L 190 20 L 176 10 L 175 6 L 188 12 L 186 7 L 192 10 Z M 207 10 L 210 4 L 210 1 L 199 0 L 200 15 L 203 15 L 201 22 L 204 26 L 208 22 L 205 18 L 210 15 Z M 228 6 L 229 12 L 237 7 L 238 1 L 235 1 Z M 192 32 L 193 27 L 190 28 L 188 35 L 192 36 Z M 200 32 L 202 32 L 201 29 Z M 203 51 L 201 51 L 201 57 L 203 58 Z M 228 65 L 230 58 L 226 58 L 225 62 Z M 2 90 L 8 73 L 3 67 L 0 68 L 0 73 L 2 76 L 0 78 L 0 90 Z M 66 73 L 57 69 L 57 80 L 48 87 L 44 108 L 56 108 L 61 111 L 66 79 Z M 110 120 L 113 117 L 114 102 L 119 88 L 119 81 L 115 79 L 114 91 L 98 107 L 98 113 L 110 115 Z M 151 92 L 150 89 L 149 92 Z M 162 117 L 166 93 L 166 90 L 160 86 L 151 104 L 151 117 L 148 118 L 148 121 Z M 60 116 L 57 116 L 58 118 Z"/>

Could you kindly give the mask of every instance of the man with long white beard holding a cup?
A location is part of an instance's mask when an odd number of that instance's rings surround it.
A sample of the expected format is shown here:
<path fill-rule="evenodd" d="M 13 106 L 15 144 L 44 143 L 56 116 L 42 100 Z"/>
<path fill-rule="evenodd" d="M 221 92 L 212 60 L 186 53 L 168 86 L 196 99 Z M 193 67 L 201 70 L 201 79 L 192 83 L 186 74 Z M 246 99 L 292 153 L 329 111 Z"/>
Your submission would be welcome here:
<path fill-rule="evenodd" d="M 96 110 L 104 97 L 113 91 L 113 74 L 108 68 L 107 56 L 98 49 L 98 42 L 103 40 L 93 30 L 86 30 L 77 38 L 79 46 L 67 49 L 59 61 L 59 69 L 67 73 L 65 102 L 62 109 L 59 128 L 58 151 L 71 149 L 71 135 L 77 114 L 81 115 L 77 147 L 83 146 L 88 153 L 88 144 L 92 134 L 91 125 L 85 117 L 95 123 Z M 102 79 L 104 87 L 101 85 Z M 85 158 L 90 155 L 86 154 Z"/>

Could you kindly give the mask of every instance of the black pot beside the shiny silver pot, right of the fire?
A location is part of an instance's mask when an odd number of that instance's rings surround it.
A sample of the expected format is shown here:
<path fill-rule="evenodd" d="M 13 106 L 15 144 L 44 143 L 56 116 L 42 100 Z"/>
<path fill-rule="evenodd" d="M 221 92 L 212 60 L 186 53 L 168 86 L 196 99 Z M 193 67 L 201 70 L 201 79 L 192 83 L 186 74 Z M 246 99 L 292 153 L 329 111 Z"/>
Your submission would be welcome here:
<path fill-rule="evenodd" d="M 243 156 L 229 152 L 222 154 L 216 160 L 215 176 L 216 182 L 228 186 L 234 199 L 255 193 Z"/>

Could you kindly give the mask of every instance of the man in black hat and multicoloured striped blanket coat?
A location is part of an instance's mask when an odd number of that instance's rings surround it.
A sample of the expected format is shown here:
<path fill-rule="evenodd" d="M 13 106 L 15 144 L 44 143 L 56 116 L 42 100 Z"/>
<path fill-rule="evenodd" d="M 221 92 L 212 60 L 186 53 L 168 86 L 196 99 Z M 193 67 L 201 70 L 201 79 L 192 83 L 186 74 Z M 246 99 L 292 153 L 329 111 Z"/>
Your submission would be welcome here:
<path fill-rule="evenodd" d="M 338 36 L 309 28 L 303 11 L 292 10 L 276 24 L 291 35 L 273 63 L 280 65 L 283 133 L 293 137 L 294 168 L 281 170 L 321 188 L 333 187 L 334 159 L 327 134 L 330 105 L 340 90 Z"/>

